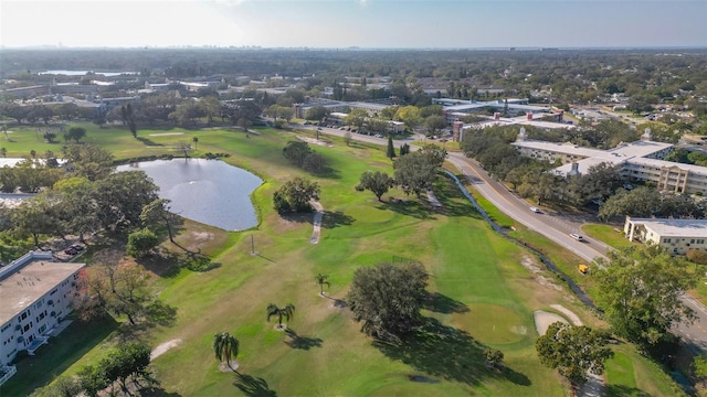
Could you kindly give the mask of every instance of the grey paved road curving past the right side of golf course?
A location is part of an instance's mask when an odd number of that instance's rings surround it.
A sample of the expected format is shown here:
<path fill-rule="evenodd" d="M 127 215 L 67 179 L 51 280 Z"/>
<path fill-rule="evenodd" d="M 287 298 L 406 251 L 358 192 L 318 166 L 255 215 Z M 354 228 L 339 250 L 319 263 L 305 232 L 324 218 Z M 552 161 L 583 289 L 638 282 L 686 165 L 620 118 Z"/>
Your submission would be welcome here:
<path fill-rule="evenodd" d="M 307 126 L 304 127 L 306 128 Z M 309 129 L 314 130 L 316 127 L 312 126 Z M 347 131 L 321 127 L 320 132 L 342 137 Z M 381 146 L 388 142 L 387 138 L 376 138 L 360 133 L 351 133 L 351 138 Z M 413 140 L 412 138 L 407 139 L 409 142 Z M 395 140 L 395 147 L 399 147 L 400 142 L 401 140 Z M 415 150 L 418 148 L 413 147 L 411 149 Z M 479 194 L 515 221 L 569 249 L 587 260 L 588 264 L 595 258 L 606 258 L 605 254 L 611 249 L 608 245 L 589 237 L 585 238 L 584 243 L 581 243 L 569 236 L 570 233 L 580 234 L 581 225 L 594 219 L 582 215 L 552 212 L 536 214 L 530 211 L 530 206 L 526 201 L 518 198 L 504 184 L 490 178 L 474 160 L 466 158 L 463 153 L 450 153 L 447 160 L 472 181 Z M 684 297 L 684 302 L 695 311 L 697 320 L 693 324 L 680 323 L 675 328 L 675 331 L 694 353 L 707 353 L 707 308 L 689 296 Z"/>

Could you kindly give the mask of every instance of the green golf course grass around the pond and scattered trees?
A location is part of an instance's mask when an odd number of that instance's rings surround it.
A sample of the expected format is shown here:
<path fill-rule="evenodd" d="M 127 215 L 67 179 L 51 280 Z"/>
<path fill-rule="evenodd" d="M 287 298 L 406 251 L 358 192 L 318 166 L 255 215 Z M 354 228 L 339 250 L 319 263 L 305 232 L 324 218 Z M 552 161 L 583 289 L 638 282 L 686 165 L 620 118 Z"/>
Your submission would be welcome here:
<path fill-rule="evenodd" d="M 520 265 L 528 254 L 494 233 L 451 180 L 441 178 L 435 183 L 435 194 L 444 206 L 433 211 L 424 201 L 397 190 L 386 194 L 383 202 L 370 192 L 354 190 L 367 170 L 392 173 L 382 147 L 360 142 L 347 147 L 329 137 L 333 147 L 313 148 L 327 159 L 331 172 L 315 178 L 282 157 L 287 140 L 313 132 L 261 129 L 260 135 L 246 138 L 230 129 L 176 130 L 183 131 L 182 136 L 150 136 L 169 131 L 140 130 L 138 136 L 144 139 L 136 140 L 120 128 L 86 128 L 86 141 L 106 146 L 118 159 L 170 153 L 170 144 L 198 136 L 198 153 L 230 153 L 225 161 L 252 170 L 265 181 L 252 195 L 260 215 L 256 228 L 225 233 L 186 222 L 180 230 L 180 244 L 201 248 L 220 266 L 202 273 L 181 269 L 157 280 L 160 299 L 178 308 L 177 319 L 173 326 L 155 326 L 139 335 L 152 346 L 181 341 L 152 363 L 165 394 L 563 395 L 555 373 L 541 366 L 535 353 L 532 311 L 560 301 L 567 292 L 539 287 Z M 17 142 L 9 143 L 18 146 L 8 148 L 10 154 L 25 150 L 19 146 L 20 135 L 13 137 Z M 308 242 L 312 215 L 283 218 L 272 210 L 273 192 L 294 175 L 316 179 L 321 186 L 326 215 L 317 245 Z M 391 200 L 393 196 L 401 201 Z M 493 213 L 494 208 L 485 205 Z M 504 218 L 497 211 L 494 216 Z M 197 239 L 197 234 L 210 238 Z M 251 236 L 258 255 L 250 255 Z M 535 236 L 529 238 L 548 249 L 553 260 L 576 266 L 573 259 L 566 259 L 567 253 L 546 247 Z M 171 248 L 169 244 L 166 247 Z M 334 304 L 345 299 L 358 267 L 393 258 L 424 264 L 432 276 L 429 290 L 435 293 L 433 304 L 423 311 L 428 333 L 401 346 L 372 343 L 359 331 L 350 311 Z M 160 273 L 159 268 L 155 271 Z M 318 294 L 314 279 L 318 272 L 329 275 L 329 298 Z M 265 321 L 271 302 L 295 304 L 288 328 L 298 337 L 275 331 L 274 323 Z M 88 329 L 93 328 L 83 332 Z M 218 371 L 211 339 L 220 331 L 231 332 L 241 342 L 238 361 L 242 376 Z M 76 339 L 77 345 L 68 351 L 35 360 L 30 372 L 42 375 L 34 382 L 15 383 L 12 390 L 17 394 L 8 395 L 25 395 L 55 374 L 75 373 L 116 341 L 106 331 L 92 332 L 97 336 L 86 344 Z M 72 334 L 67 330 L 65 336 Z M 504 373 L 489 372 L 482 364 L 487 346 L 504 352 Z M 412 376 L 430 382 L 412 382 Z M 6 395 L 7 387 L 0 395 Z"/>

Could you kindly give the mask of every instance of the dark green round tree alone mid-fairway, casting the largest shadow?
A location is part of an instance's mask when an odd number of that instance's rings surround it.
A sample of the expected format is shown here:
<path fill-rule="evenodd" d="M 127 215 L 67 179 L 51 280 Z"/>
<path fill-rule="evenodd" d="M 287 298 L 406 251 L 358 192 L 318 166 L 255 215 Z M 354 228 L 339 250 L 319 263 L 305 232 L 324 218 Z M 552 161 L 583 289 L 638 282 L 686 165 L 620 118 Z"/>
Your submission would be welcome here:
<path fill-rule="evenodd" d="M 358 268 L 347 301 L 361 331 L 380 340 L 398 340 L 421 321 L 429 275 L 420 264 L 381 264 Z"/>

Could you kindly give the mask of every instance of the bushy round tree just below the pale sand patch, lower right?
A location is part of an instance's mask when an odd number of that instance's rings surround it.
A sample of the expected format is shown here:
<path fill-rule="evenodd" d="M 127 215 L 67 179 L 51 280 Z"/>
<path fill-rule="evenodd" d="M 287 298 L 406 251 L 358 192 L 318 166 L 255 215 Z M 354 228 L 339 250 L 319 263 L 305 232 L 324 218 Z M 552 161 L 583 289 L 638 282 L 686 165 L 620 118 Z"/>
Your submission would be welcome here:
<path fill-rule="evenodd" d="M 606 346 L 606 337 L 605 332 L 558 321 L 550 324 L 535 346 L 540 363 L 557 368 L 577 389 L 587 382 L 588 372 L 604 373 L 604 363 L 614 355 Z"/>

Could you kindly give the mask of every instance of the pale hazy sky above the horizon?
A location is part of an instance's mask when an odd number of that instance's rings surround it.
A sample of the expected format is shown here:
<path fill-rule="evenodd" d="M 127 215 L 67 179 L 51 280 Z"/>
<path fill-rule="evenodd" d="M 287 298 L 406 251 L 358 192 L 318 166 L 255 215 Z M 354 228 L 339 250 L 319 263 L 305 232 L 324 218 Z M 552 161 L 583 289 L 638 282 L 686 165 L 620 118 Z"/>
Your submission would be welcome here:
<path fill-rule="evenodd" d="M 3 47 L 707 47 L 706 0 L 0 0 Z"/>

